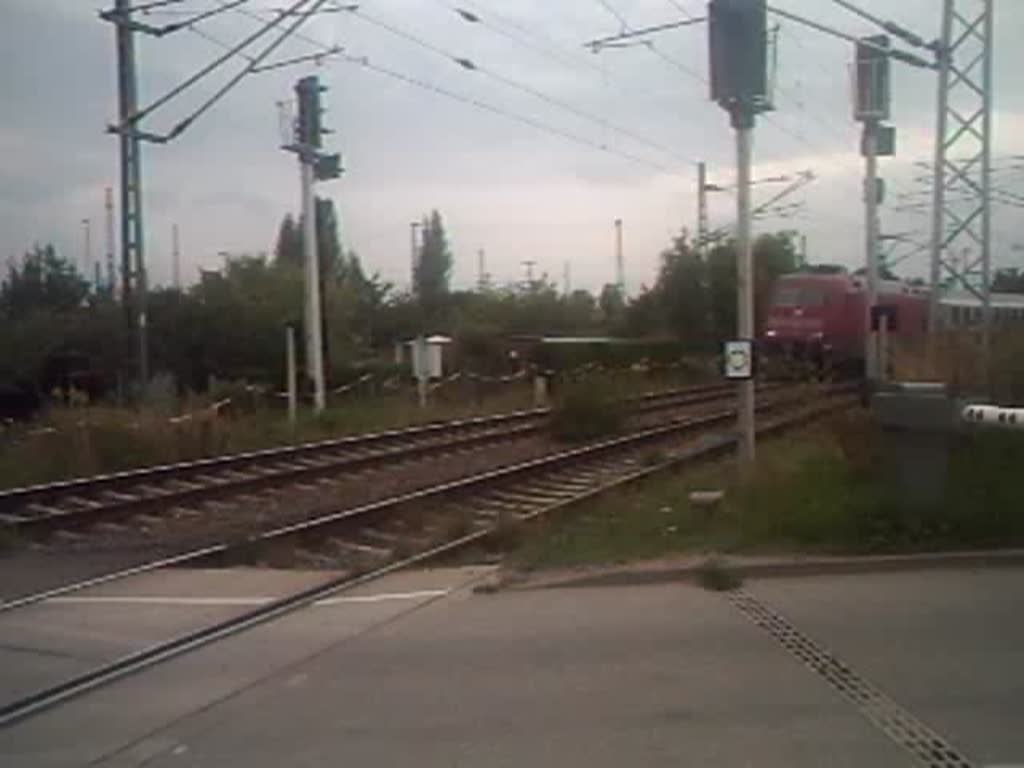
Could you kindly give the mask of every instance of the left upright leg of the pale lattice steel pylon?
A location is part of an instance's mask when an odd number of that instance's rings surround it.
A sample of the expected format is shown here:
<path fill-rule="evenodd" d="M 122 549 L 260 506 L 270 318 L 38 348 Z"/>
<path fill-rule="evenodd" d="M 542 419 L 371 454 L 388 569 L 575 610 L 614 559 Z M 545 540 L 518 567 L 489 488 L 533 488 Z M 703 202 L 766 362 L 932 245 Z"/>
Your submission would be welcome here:
<path fill-rule="evenodd" d="M 949 106 L 949 48 L 952 44 L 953 0 L 942 3 L 942 37 L 939 42 L 938 114 L 935 124 L 935 164 L 932 168 L 932 264 L 929 275 L 928 338 L 930 354 L 934 351 L 939 328 L 939 281 L 945 240 L 946 210 L 946 128 Z"/>

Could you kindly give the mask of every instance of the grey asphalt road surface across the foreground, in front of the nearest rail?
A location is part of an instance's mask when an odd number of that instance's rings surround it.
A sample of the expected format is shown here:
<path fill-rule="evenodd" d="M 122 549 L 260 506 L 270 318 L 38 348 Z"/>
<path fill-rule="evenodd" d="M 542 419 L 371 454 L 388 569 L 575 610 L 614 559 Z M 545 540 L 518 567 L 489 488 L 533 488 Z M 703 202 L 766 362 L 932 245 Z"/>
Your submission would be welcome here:
<path fill-rule="evenodd" d="M 724 595 L 478 595 L 480 574 L 395 574 L 138 674 L 0 730 L 0 765 L 921 765 Z M 973 765 L 1024 766 L 1024 570 L 746 591 Z M 142 624 L 193 621 L 187 600 L 128 596 L 142 600 L 93 604 L 93 629 L 129 605 Z"/>

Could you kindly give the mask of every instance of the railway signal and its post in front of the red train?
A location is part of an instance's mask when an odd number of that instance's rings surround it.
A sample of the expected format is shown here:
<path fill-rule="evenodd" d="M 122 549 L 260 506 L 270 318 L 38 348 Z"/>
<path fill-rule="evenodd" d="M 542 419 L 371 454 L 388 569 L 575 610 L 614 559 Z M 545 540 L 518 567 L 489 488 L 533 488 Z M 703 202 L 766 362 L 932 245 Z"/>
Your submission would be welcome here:
<path fill-rule="evenodd" d="M 892 155 L 894 131 L 882 122 L 889 119 L 889 38 L 874 35 L 855 43 L 856 97 L 853 116 L 863 124 L 861 155 L 864 157 L 864 249 L 867 292 L 864 301 L 864 373 L 878 381 L 879 366 L 879 203 L 883 184 L 879 180 L 879 157 Z"/>

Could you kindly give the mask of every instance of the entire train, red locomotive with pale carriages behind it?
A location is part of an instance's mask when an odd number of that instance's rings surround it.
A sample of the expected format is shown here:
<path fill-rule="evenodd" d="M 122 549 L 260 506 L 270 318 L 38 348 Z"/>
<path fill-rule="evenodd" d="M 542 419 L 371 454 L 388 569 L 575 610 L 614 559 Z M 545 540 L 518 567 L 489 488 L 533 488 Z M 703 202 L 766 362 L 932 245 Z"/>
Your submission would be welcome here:
<path fill-rule="evenodd" d="M 928 330 L 928 289 L 901 281 L 882 281 L 879 304 L 891 307 L 890 334 L 921 338 Z M 864 356 L 866 281 L 842 268 L 804 271 L 779 278 L 761 329 L 761 348 L 817 365 L 859 366 Z M 1024 328 L 1024 295 L 992 294 L 996 328 Z M 981 323 L 982 304 L 967 291 L 944 292 L 938 304 L 942 328 L 970 329 Z"/>

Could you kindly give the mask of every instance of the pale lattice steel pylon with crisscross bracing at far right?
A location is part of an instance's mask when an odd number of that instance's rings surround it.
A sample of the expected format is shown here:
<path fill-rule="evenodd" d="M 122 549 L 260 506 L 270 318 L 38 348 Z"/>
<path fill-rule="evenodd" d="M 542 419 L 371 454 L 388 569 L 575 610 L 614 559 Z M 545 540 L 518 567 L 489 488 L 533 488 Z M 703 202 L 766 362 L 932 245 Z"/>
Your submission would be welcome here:
<path fill-rule="evenodd" d="M 947 288 L 962 287 L 983 306 L 991 329 L 991 139 L 993 0 L 943 0 L 938 123 L 933 185 L 931 312 Z"/>

